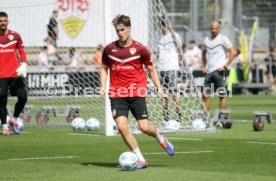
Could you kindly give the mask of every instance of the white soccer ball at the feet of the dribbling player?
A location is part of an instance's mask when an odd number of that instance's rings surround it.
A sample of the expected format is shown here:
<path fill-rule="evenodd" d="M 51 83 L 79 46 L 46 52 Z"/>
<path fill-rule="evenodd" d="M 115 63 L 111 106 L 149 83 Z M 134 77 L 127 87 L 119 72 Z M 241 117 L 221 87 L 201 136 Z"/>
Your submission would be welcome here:
<path fill-rule="evenodd" d="M 138 158 L 132 152 L 124 152 L 119 157 L 119 165 L 123 170 L 135 170 L 138 165 Z"/>

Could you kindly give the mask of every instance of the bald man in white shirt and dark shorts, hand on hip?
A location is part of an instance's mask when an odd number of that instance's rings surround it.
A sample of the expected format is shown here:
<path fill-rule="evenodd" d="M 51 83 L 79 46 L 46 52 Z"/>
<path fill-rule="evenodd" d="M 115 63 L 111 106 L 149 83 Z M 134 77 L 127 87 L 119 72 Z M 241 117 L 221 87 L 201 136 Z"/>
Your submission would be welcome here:
<path fill-rule="evenodd" d="M 203 100 L 209 110 L 211 89 L 215 88 L 213 91 L 216 91 L 220 98 L 219 108 L 226 109 L 225 72 L 236 56 L 236 51 L 230 40 L 219 33 L 219 22 L 213 21 L 210 31 L 211 36 L 204 39 L 205 50 L 202 53 L 202 72 L 207 73 L 204 81 Z"/>

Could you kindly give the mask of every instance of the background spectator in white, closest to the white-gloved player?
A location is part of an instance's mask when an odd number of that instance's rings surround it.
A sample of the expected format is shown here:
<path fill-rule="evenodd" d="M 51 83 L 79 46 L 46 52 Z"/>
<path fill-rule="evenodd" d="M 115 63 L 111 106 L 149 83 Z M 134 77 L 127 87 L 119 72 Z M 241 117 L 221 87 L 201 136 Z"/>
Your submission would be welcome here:
<path fill-rule="evenodd" d="M 53 65 L 49 62 L 47 52 L 47 46 L 43 46 L 42 51 L 38 55 L 38 65 L 40 72 L 49 72 L 50 69 L 53 69 Z"/>

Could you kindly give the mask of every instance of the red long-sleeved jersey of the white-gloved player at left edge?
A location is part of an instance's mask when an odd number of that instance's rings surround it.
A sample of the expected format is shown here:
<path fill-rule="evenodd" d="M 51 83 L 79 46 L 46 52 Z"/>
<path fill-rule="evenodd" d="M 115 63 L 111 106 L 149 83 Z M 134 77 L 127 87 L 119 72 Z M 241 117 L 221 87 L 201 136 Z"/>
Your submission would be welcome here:
<path fill-rule="evenodd" d="M 17 77 L 18 52 L 21 62 L 26 62 L 26 54 L 20 35 L 11 30 L 8 30 L 4 35 L 0 34 L 0 78 Z"/>

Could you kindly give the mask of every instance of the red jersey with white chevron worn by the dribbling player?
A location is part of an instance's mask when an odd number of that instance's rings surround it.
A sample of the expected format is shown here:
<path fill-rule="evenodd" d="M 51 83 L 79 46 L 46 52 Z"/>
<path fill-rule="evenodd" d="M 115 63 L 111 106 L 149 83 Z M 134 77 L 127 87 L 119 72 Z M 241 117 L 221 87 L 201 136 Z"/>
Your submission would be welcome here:
<path fill-rule="evenodd" d="M 120 47 L 115 41 L 103 51 L 102 63 L 109 66 L 109 97 L 146 97 L 147 74 L 144 66 L 152 65 L 149 51 L 132 40 L 128 47 Z"/>

